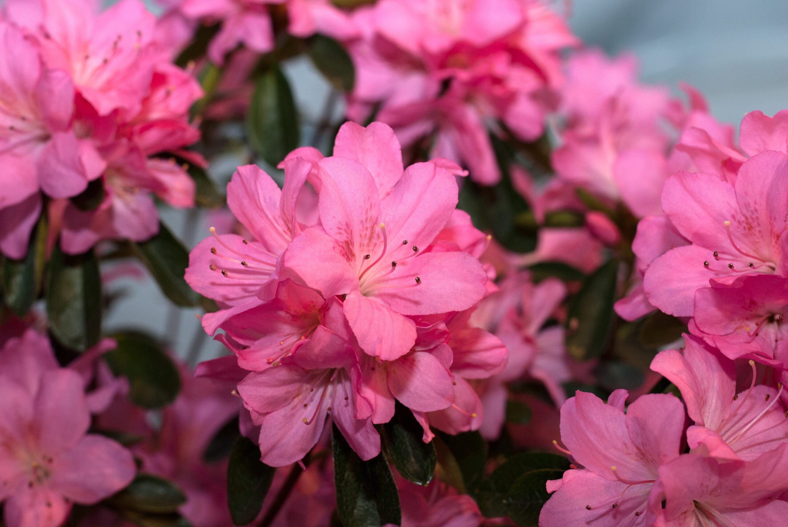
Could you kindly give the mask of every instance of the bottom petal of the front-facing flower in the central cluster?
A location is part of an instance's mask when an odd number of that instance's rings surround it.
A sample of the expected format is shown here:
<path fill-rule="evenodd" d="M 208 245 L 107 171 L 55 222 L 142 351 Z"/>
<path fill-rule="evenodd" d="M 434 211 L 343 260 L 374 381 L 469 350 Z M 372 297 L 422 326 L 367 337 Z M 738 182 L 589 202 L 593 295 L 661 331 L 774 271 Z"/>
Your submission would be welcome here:
<path fill-rule="evenodd" d="M 343 311 L 359 346 L 368 355 L 394 360 L 410 351 L 416 341 L 414 322 L 379 300 L 348 293 Z"/>

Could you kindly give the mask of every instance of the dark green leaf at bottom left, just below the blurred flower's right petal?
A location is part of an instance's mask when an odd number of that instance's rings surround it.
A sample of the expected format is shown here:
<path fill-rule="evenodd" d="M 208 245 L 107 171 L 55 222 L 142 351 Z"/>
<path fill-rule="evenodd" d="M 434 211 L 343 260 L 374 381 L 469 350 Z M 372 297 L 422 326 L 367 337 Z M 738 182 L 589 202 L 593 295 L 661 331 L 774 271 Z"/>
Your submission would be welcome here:
<path fill-rule="evenodd" d="M 108 501 L 119 509 L 169 514 L 177 512 L 178 507 L 186 503 L 186 496 L 171 481 L 152 474 L 137 474 L 128 487 Z"/>

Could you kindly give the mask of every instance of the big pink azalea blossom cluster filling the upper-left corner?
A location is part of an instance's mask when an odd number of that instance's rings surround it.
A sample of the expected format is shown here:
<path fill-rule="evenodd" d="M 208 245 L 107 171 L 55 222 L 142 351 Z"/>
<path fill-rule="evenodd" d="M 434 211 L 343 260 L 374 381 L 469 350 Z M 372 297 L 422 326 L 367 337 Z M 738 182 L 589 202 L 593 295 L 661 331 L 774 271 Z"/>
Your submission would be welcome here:
<path fill-rule="evenodd" d="M 11 258 L 27 252 L 44 205 L 69 253 L 151 238 L 152 196 L 194 205 L 195 184 L 172 154 L 204 163 L 181 152 L 199 138 L 188 109 L 202 90 L 170 63 L 142 2 L 102 13 L 94 3 L 5 2 L 0 249 Z"/>

